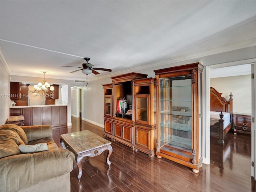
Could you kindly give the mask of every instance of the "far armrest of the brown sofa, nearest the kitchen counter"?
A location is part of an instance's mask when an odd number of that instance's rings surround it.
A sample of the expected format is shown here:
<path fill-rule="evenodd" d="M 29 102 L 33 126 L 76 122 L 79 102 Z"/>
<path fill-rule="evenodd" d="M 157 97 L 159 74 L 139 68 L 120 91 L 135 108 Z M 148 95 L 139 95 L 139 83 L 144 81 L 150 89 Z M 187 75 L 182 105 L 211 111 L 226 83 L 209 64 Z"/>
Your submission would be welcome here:
<path fill-rule="evenodd" d="M 52 136 L 52 127 L 50 125 L 32 125 L 20 127 L 24 130 L 28 141 L 34 141 Z"/>

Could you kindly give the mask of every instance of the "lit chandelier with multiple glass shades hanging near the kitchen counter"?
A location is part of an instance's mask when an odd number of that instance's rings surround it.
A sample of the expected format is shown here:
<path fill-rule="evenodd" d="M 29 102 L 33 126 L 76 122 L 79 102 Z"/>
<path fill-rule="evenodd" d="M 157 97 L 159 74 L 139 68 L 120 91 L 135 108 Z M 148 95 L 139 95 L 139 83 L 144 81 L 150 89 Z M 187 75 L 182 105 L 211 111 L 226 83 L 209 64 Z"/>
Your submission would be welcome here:
<path fill-rule="evenodd" d="M 37 85 L 34 85 L 33 94 L 38 95 L 38 97 L 50 97 L 51 99 L 54 99 L 54 87 L 50 86 L 50 84 L 45 80 L 46 72 L 43 73 L 44 81 L 43 83 L 39 82 Z"/>

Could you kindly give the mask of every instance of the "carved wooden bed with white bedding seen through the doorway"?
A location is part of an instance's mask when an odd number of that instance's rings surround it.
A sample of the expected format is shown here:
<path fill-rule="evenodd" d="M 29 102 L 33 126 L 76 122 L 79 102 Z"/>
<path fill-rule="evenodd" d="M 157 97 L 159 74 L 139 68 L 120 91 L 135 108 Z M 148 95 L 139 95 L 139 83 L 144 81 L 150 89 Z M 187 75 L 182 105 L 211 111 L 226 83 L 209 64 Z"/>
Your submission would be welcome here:
<path fill-rule="evenodd" d="M 218 136 L 218 145 L 224 146 L 224 137 L 232 128 L 233 95 L 230 98 L 221 96 L 213 87 L 210 88 L 211 96 L 211 135 Z"/>

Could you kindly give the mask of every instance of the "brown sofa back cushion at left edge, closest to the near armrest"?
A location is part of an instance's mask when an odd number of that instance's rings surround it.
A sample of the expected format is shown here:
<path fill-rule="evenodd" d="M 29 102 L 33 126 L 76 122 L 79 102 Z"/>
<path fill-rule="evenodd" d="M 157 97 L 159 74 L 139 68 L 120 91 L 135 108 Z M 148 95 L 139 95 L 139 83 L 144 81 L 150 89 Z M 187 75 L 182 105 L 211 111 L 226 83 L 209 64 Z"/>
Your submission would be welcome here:
<path fill-rule="evenodd" d="M 18 145 L 11 138 L 0 138 L 0 158 L 21 154 Z"/>

